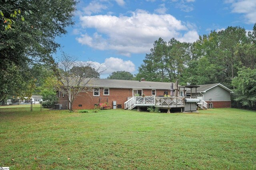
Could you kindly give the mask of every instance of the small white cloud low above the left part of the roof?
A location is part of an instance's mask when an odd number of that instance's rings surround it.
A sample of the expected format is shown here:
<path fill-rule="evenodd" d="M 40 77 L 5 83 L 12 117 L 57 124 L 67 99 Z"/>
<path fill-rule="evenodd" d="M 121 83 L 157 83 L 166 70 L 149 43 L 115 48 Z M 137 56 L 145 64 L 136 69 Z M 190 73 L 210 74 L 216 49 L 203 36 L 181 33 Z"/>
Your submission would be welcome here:
<path fill-rule="evenodd" d="M 114 57 L 106 58 L 103 63 L 90 61 L 90 65 L 96 70 L 103 71 L 102 74 L 111 74 L 115 71 L 134 72 L 136 70 L 132 61 Z"/>

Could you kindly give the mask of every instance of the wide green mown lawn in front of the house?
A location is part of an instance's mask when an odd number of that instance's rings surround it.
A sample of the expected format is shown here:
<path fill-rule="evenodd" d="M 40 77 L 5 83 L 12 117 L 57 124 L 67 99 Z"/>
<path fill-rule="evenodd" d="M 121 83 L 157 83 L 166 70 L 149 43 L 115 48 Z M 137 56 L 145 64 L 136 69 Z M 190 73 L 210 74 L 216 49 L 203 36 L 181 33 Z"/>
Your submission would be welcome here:
<path fill-rule="evenodd" d="M 0 166 L 256 169 L 256 112 L 69 113 L 0 107 Z"/>

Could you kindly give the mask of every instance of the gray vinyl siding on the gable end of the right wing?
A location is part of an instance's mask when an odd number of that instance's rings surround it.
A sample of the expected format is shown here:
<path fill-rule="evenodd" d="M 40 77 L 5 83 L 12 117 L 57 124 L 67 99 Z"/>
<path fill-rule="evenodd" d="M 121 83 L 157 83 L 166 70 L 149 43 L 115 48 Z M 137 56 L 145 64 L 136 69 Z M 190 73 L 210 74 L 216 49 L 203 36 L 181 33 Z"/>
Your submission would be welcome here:
<path fill-rule="evenodd" d="M 213 102 L 217 102 L 217 101 L 230 102 L 231 101 L 230 92 L 228 92 L 227 90 L 224 90 L 220 86 L 216 86 L 210 90 L 207 90 L 206 93 L 202 93 L 202 94 L 204 94 L 205 101 L 209 101 L 210 98 L 212 99 Z"/>

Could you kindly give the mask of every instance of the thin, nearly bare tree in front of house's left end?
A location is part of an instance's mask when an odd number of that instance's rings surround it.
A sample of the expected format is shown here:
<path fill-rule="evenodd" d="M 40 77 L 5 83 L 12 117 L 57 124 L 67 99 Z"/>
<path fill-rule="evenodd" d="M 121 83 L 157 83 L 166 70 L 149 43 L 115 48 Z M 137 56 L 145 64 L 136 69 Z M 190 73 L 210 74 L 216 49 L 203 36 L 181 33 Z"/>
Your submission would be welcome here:
<path fill-rule="evenodd" d="M 96 69 L 88 69 L 94 66 L 93 62 L 78 62 L 76 58 L 67 54 L 62 54 L 58 67 L 60 68 L 61 90 L 68 96 L 70 111 L 76 97 L 83 92 L 88 92 L 90 80 L 95 76 L 95 71 L 100 73 L 101 66 Z M 74 68 L 75 67 L 75 68 Z M 72 70 L 72 68 L 74 68 Z"/>

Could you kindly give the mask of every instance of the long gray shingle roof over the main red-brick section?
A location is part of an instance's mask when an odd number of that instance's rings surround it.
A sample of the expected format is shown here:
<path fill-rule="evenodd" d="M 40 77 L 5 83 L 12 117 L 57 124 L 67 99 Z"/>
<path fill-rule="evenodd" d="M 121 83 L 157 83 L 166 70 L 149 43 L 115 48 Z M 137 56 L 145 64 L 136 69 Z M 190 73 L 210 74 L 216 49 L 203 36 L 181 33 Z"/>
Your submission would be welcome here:
<path fill-rule="evenodd" d="M 88 86 L 106 88 L 170 89 L 171 82 L 148 82 L 138 80 L 113 80 L 93 78 L 88 82 Z"/>

